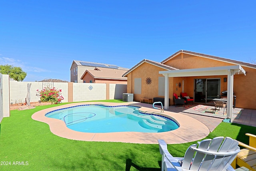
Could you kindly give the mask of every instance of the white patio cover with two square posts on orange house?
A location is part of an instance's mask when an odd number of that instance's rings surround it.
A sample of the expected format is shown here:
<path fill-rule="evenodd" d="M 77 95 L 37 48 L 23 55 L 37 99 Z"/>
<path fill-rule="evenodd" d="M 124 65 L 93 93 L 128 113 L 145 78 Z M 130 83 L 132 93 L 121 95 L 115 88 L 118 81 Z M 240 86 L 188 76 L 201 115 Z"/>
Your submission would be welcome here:
<path fill-rule="evenodd" d="M 234 92 L 234 75 L 244 74 L 246 71 L 240 65 L 221 66 L 210 68 L 196 68 L 184 70 L 160 71 L 159 74 L 164 76 L 164 109 L 169 108 L 169 77 L 195 77 L 195 76 L 227 76 L 227 118 L 232 120 L 233 110 L 233 92 Z"/>

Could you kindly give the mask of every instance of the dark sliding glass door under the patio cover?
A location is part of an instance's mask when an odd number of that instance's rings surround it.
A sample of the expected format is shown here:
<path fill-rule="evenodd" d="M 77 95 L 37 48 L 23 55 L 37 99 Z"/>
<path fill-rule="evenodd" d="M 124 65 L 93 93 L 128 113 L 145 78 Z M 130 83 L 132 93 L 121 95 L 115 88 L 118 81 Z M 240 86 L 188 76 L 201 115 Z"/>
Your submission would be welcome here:
<path fill-rule="evenodd" d="M 218 98 L 220 79 L 195 79 L 195 102 L 208 103 Z"/>

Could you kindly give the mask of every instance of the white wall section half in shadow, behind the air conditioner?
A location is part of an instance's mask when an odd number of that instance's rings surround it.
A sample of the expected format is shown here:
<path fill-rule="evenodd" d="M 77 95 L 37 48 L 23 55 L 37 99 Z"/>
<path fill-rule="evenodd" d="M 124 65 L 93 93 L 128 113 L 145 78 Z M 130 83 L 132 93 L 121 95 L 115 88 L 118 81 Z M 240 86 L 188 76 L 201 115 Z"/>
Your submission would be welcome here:
<path fill-rule="evenodd" d="M 109 84 L 109 99 L 122 99 L 127 93 L 127 84 Z"/>

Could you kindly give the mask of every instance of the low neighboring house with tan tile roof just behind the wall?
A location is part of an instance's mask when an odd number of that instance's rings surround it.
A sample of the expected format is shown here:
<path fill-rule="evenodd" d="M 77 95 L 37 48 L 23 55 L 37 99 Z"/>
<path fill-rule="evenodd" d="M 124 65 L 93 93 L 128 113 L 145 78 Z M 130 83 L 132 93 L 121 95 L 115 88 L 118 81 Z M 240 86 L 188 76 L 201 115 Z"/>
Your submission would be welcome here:
<path fill-rule="evenodd" d="M 127 70 L 96 67 L 94 70 L 86 70 L 80 79 L 84 83 L 127 84 L 127 78 L 122 77 L 125 72 Z"/>

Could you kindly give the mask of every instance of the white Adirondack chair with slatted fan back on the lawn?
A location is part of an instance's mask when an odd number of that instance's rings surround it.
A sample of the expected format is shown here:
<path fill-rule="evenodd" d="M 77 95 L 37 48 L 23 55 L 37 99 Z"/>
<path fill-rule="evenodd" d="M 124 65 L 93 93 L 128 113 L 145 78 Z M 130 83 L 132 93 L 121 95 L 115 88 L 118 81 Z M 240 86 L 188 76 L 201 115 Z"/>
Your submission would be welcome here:
<path fill-rule="evenodd" d="M 184 157 L 172 157 L 163 139 L 158 139 L 162 171 L 232 171 L 230 164 L 240 151 L 238 141 L 226 137 L 205 139 L 190 145 Z M 222 143 L 223 141 L 223 143 Z M 194 153 L 195 156 L 194 156 Z M 182 164 L 180 160 L 183 160 Z"/>

